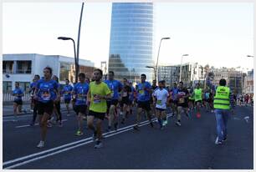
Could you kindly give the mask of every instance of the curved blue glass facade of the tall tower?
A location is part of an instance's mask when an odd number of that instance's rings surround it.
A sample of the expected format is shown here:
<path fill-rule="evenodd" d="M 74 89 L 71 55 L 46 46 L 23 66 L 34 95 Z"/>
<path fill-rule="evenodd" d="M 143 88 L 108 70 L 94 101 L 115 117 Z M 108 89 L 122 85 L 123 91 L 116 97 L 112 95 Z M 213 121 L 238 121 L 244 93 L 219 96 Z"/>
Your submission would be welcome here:
<path fill-rule="evenodd" d="M 153 62 L 153 3 L 113 3 L 109 71 L 115 78 L 151 81 Z"/>

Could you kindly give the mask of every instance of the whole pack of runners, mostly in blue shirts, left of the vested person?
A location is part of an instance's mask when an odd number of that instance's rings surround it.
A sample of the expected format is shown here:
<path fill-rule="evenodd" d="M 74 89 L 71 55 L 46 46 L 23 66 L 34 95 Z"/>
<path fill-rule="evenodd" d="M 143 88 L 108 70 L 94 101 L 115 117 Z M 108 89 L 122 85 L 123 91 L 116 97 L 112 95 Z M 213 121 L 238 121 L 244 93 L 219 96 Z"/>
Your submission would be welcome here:
<path fill-rule="evenodd" d="M 182 113 L 191 118 L 196 114 L 201 117 L 203 106 L 208 111 L 213 110 L 213 91 L 207 89 L 203 91 L 200 83 L 196 84 L 194 89 L 187 89 L 182 82 L 174 83 L 172 89 L 166 88 L 165 80 L 156 80 L 151 83 L 146 81 L 146 74 L 141 74 L 141 82 L 136 87 L 123 78 L 122 81 L 115 79 L 115 73 L 110 71 L 108 79 L 102 79 L 103 73 L 100 69 L 95 69 L 93 77 L 86 78 L 84 73 L 79 73 L 79 82 L 74 86 L 66 83 L 63 89 L 60 89 L 59 78 L 53 75 L 52 68 L 44 68 L 44 77 L 35 75 L 31 83 L 31 108 L 33 109 L 33 119 L 31 126 L 38 121 L 41 128 L 41 140 L 37 145 L 43 148 L 46 140 L 47 129 L 52 124 L 62 123 L 62 113 L 60 111 L 60 99 L 63 97 L 67 109 L 67 115 L 70 115 L 70 104 L 74 109 L 77 119 L 77 131 L 75 135 L 84 134 L 84 119 L 87 128 L 92 130 L 92 138 L 95 140 L 95 148 L 102 147 L 102 123 L 108 119 L 107 131 L 117 130 L 120 124 L 125 124 L 125 120 L 136 114 L 135 125 L 133 129 L 139 131 L 141 117 L 149 121 L 151 128 L 154 127 L 153 120 L 157 119 L 159 129 L 164 129 L 168 123 L 166 109 L 172 109 L 172 117 L 176 117 L 177 126 L 182 125 Z M 18 89 L 18 87 L 16 88 Z M 23 96 L 18 90 L 13 94 L 17 97 L 14 102 L 18 104 L 18 98 Z M 136 113 L 132 109 L 136 107 Z M 194 113 L 193 113 L 194 111 Z M 54 118 L 55 116 L 55 118 Z M 55 121 L 54 121 L 55 119 Z M 94 123 L 95 122 L 95 123 Z"/>

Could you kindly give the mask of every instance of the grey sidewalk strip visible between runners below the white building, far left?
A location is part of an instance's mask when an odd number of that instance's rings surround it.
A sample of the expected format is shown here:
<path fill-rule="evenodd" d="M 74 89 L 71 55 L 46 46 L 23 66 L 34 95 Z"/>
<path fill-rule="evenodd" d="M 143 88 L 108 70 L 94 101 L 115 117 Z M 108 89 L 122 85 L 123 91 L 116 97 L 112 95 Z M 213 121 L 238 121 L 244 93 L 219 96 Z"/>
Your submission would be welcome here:
<path fill-rule="evenodd" d="M 69 108 L 72 109 L 72 105 L 69 104 Z M 66 109 L 65 104 L 60 104 L 60 109 Z M 22 114 L 18 115 L 23 115 L 23 114 L 33 114 L 33 112 L 30 111 L 30 104 L 29 103 L 23 103 L 23 111 Z M 10 116 L 13 115 L 13 104 L 3 104 L 3 116 Z"/>

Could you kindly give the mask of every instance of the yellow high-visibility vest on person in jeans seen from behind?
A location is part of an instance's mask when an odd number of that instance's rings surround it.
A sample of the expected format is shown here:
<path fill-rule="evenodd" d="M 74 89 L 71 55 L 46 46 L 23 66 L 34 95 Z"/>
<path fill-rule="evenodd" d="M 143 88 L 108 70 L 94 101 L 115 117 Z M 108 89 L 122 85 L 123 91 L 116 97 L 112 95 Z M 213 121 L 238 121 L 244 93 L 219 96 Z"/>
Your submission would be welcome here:
<path fill-rule="evenodd" d="M 218 86 L 213 101 L 214 109 L 230 109 L 229 94 L 228 87 Z"/>

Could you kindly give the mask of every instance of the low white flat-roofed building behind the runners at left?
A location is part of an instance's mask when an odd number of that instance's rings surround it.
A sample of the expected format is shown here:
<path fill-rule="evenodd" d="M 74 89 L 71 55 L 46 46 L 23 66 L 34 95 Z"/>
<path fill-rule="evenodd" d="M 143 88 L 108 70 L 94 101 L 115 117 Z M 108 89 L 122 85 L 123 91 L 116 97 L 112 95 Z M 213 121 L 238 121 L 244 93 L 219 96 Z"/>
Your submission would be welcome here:
<path fill-rule="evenodd" d="M 15 88 L 15 82 L 28 91 L 35 74 L 44 76 L 43 69 L 53 68 L 53 74 L 59 77 L 60 83 L 65 78 L 74 81 L 74 58 L 60 55 L 42 55 L 37 53 L 3 54 L 3 93 Z M 79 72 L 91 76 L 95 64 L 89 60 L 79 59 Z"/>

